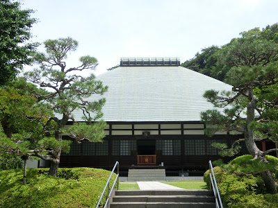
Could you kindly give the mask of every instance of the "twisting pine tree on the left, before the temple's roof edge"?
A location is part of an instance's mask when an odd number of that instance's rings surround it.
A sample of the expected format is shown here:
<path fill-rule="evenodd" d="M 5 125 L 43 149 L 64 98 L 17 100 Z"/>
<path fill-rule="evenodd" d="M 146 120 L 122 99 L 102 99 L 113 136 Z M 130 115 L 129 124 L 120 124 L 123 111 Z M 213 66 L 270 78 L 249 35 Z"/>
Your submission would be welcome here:
<path fill-rule="evenodd" d="M 67 54 L 75 51 L 78 43 L 70 37 L 44 42 L 46 53 L 36 53 L 35 61 L 40 69 L 34 69 L 24 74 L 28 81 L 39 85 L 44 89 L 50 89 L 47 94 L 34 92 L 35 96 L 46 101 L 56 116 L 50 116 L 47 124 L 54 122 L 54 137 L 44 137 L 38 142 L 43 148 L 33 150 L 33 154 L 51 162 L 49 175 L 56 175 L 60 163 L 60 154 L 63 150 L 69 150 L 69 141 L 63 139 L 63 133 L 80 142 L 83 139 L 96 142 L 105 137 L 106 123 L 101 120 L 101 107 L 105 103 L 104 98 L 89 101 L 93 94 L 103 94 L 107 91 L 101 81 L 95 80 L 90 74 L 83 77 L 78 73 L 85 69 L 95 69 L 97 59 L 89 55 L 79 58 L 79 67 L 66 67 Z M 74 120 L 74 110 L 83 112 L 83 119 L 87 123 L 76 123 L 68 130 L 64 127 L 67 121 Z M 90 124 L 90 125 L 88 125 Z M 47 148 L 46 148 L 47 147 Z M 44 151 L 42 151 L 44 150 Z M 47 152 L 47 153 L 43 153 Z"/>

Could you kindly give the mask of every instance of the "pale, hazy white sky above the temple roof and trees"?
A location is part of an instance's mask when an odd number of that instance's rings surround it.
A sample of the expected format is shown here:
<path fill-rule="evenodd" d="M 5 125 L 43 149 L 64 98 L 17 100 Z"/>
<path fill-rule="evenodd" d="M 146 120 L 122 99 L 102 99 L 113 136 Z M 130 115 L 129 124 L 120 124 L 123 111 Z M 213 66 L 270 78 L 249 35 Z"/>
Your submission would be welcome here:
<path fill-rule="evenodd" d="M 95 73 L 122 57 L 173 57 L 181 63 L 239 33 L 278 23 L 277 0 L 21 0 L 38 19 L 33 42 L 72 37 L 79 47 L 67 59 L 97 58 Z M 43 45 L 38 50 L 43 51 Z M 26 67 L 26 70 L 29 70 Z"/>

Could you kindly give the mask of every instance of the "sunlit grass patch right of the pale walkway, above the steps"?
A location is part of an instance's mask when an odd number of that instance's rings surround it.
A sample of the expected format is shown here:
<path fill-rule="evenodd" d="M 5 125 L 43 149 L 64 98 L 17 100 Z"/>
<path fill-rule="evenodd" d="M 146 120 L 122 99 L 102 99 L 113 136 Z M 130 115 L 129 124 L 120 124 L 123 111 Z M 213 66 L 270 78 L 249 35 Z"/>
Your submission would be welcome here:
<path fill-rule="evenodd" d="M 163 183 L 174 187 L 179 187 L 181 189 L 209 189 L 209 187 L 206 185 L 206 182 L 202 180 L 174 180 Z"/>

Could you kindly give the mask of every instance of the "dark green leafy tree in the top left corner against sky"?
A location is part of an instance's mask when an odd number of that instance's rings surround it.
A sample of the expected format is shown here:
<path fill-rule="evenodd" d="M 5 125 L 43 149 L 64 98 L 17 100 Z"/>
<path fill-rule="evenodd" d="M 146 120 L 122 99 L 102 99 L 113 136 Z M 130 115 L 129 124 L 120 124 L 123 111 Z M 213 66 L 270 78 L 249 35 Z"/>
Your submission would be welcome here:
<path fill-rule="evenodd" d="M 0 85 L 15 79 L 38 44 L 29 43 L 33 10 L 21 10 L 17 1 L 0 0 Z"/>

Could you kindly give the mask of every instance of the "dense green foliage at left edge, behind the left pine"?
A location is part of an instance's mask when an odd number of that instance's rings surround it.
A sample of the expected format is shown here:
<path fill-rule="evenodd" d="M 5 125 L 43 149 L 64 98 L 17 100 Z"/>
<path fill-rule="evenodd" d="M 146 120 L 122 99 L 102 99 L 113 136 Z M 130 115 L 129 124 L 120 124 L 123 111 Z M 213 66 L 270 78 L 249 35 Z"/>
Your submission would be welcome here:
<path fill-rule="evenodd" d="M 22 156 L 28 158 L 30 149 L 41 139 L 51 110 L 26 90 L 39 90 L 19 80 L 0 89 L 0 169 L 22 166 Z"/>

